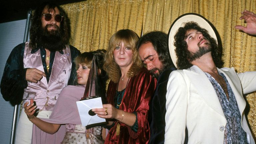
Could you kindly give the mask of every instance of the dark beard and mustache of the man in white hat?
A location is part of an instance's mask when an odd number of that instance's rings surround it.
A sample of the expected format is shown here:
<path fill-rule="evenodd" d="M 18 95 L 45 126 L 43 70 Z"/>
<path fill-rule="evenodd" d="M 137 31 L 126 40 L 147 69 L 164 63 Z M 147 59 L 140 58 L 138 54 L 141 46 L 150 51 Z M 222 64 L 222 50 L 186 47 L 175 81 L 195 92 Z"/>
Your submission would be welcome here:
<path fill-rule="evenodd" d="M 202 40 L 203 40 L 203 39 L 202 39 Z M 202 40 L 201 40 L 201 41 L 202 41 Z M 201 41 L 200 41 L 200 42 L 201 42 Z M 200 42 L 198 43 L 198 47 L 199 47 L 198 51 L 196 51 L 196 52 L 189 52 L 188 60 L 189 60 L 190 62 L 192 62 L 192 61 L 194 61 L 194 60 L 196 60 L 196 59 L 199 59 L 199 58 L 200 58 L 201 56 L 203 56 L 204 54 L 206 54 L 206 53 L 212 51 L 212 47 L 211 47 L 211 45 L 209 44 L 209 42 L 206 42 L 206 43 L 205 43 L 206 46 L 202 46 L 202 47 L 199 46 Z"/>

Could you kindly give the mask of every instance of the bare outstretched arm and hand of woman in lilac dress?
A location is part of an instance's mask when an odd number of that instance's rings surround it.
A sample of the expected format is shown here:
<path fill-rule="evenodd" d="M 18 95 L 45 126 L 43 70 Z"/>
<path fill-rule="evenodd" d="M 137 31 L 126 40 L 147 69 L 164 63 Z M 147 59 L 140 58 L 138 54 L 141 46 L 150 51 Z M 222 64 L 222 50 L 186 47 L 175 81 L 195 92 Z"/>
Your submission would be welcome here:
<path fill-rule="evenodd" d="M 27 105 L 28 102 L 24 104 L 24 111 L 27 114 L 28 119 L 35 124 L 38 128 L 40 128 L 42 131 L 49 133 L 49 134 L 54 134 L 55 132 L 58 131 L 60 128 L 60 124 L 52 124 L 45 122 L 37 117 L 34 116 L 34 113 L 36 111 L 36 106 L 34 106 L 34 100 L 30 100 L 30 105 Z"/>

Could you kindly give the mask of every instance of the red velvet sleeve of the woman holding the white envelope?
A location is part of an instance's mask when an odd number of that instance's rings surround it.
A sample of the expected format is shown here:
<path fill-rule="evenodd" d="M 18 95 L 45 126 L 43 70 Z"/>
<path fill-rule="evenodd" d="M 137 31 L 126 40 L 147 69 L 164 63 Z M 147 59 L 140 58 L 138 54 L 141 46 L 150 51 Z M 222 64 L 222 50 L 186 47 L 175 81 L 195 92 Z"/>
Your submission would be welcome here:
<path fill-rule="evenodd" d="M 157 81 L 150 73 L 145 72 L 137 76 L 138 82 L 134 83 L 136 87 L 136 96 L 138 97 L 135 111 L 137 112 L 138 119 L 138 131 L 137 133 L 130 128 L 129 134 L 132 138 L 136 138 L 138 143 L 147 143 L 150 137 L 149 123 L 148 123 L 148 111 L 151 97 L 154 94 Z"/>

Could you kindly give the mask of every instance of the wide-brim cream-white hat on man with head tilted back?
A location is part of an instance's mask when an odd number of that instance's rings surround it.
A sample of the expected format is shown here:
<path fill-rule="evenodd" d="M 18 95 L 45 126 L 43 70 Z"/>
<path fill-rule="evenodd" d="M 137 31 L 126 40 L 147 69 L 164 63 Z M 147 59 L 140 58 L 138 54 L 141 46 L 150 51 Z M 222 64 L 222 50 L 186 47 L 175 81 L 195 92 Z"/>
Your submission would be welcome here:
<path fill-rule="evenodd" d="M 171 25 L 169 33 L 168 33 L 168 45 L 169 45 L 169 53 L 172 58 L 172 62 L 177 68 L 177 56 L 174 46 L 174 36 L 177 33 L 180 27 L 184 27 L 185 23 L 194 21 L 196 22 L 201 28 L 204 28 L 208 31 L 209 35 L 217 41 L 217 31 L 215 27 L 203 16 L 196 14 L 196 13 L 186 13 L 179 16 Z"/>

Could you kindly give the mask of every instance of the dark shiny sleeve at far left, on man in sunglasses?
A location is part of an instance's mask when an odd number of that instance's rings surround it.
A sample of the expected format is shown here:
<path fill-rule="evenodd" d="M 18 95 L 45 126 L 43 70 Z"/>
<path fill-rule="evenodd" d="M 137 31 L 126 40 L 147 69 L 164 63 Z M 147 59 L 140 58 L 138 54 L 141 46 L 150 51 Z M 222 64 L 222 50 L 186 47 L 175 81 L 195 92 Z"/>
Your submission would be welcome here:
<path fill-rule="evenodd" d="M 25 43 L 17 45 L 9 55 L 2 80 L 1 93 L 4 100 L 11 101 L 13 104 L 21 102 L 24 88 L 27 87 L 26 70 L 23 67 Z"/>

